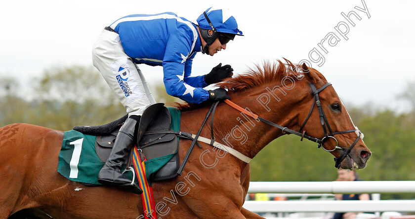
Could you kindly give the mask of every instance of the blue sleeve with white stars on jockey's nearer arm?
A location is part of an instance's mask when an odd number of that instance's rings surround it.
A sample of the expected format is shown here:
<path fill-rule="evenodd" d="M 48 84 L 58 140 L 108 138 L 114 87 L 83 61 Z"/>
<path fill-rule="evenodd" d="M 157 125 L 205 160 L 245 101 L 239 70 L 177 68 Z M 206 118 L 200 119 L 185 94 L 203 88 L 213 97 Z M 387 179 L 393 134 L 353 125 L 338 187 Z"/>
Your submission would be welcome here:
<path fill-rule="evenodd" d="M 163 59 L 163 81 L 167 94 L 188 103 L 199 104 L 209 98 L 209 93 L 203 88 L 194 87 L 184 81 L 185 63 L 190 55 L 190 45 L 192 45 L 192 39 L 182 32 L 178 31 L 169 37 Z M 190 81 L 193 85 L 196 84 L 194 80 Z"/>

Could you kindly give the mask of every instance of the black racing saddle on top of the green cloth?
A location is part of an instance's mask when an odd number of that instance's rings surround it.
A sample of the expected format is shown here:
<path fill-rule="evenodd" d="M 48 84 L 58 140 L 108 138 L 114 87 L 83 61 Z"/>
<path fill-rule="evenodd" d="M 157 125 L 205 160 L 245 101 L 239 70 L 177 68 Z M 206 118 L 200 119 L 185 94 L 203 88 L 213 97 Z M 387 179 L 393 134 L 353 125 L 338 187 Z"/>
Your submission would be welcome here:
<path fill-rule="evenodd" d="M 111 153 L 117 133 L 126 118 L 127 115 L 101 126 L 76 126 L 74 130 L 97 136 L 95 151 L 99 159 L 105 162 Z M 147 176 L 149 183 L 177 176 L 177 170 L 180 165 L 177 153 L 178 138 L 176 133 L 170 128 L 170 123 L 170 112 L 163 103 L 149 106 L 141 116 L 136 139 L 140 155 L 144 155 L 150 161 L 166 156 L 170 157 L 173 154 L 167 162 L 165 161 L 166 164 L 163 167 L 159 167 L 159 170 Z M 131 150 L 126 162 L 127 167 L 131 166 L 132 154 Z"/>

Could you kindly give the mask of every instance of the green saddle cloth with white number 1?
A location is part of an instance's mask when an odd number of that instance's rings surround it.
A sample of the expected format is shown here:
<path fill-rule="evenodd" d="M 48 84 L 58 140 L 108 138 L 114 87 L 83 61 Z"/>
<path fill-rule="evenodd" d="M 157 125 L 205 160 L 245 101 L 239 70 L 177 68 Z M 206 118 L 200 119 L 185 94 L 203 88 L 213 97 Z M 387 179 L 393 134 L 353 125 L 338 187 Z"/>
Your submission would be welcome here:
<path fill-rule="evenodd" d="M 172 107 L 167 107 L 167 109 L 171 115 L 170 128 L 173 131 L 179 131 L 180 110 Z M 85 135 L 75 130 L 64 132 L 62 148 L 59 152 L 58 172 L 71 181 L 101 185 L 98 183 L 98 173 L 104 162 L 95 153 L 95 140 L 96 136 Z M 173 155 L 145 161 L 146 176 L 155 174 Z M 122 170 L 124 169 L 125 165 Z M 124 175 L 132 179 L 131 171 L 125 172 Z M 137 179 L 135 181 L 138 183 Z"/>

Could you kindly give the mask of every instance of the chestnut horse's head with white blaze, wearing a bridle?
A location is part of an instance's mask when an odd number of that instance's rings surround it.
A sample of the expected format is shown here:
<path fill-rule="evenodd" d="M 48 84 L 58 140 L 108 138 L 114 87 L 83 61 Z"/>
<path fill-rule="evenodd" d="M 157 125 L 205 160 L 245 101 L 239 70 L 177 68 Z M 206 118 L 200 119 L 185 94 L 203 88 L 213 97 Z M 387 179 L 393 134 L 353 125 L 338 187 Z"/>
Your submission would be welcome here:
<path fill-rule="evenodd" d="M 336 168 L 364 168 L 371 151 L 331 83 L 305 64 L 300 68 L 305 78 L 301 81 L 308 84 L 308 95 L 301 101 L 304 113 L 298 115 L 299 132 L 319 139 L 320 146 L 336 157 Z"/>

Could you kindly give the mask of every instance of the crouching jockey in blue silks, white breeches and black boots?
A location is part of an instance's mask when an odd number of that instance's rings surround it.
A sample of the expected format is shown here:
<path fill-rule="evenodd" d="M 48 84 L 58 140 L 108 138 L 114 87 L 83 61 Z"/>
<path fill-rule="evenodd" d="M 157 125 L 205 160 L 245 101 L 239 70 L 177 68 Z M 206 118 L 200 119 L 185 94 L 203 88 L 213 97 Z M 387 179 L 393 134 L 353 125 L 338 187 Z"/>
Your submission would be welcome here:
<path fill-rule="evenodd" d="M 197 22 L 193 24 L 171 12 L 128 15 L 106 27 L 94 43 L 93 64 L 128 113 L 98 174 L 99 183 L 130 185 L 120 170 L 143 111 L 156 103 L 135 64 L 163 66 L 167 94 L 188 103 L 229 99 L 223 88 L 207 91 L 203 87 L 232 77 L 231 66 L 219 64 L 206 75 L 190 76 L 192 60 L 197 52 L 213 56 L 226 49 L 236 35 L 243 36 L 242 32 L 229 10 L 216 6 L 208 8 Z"/>

